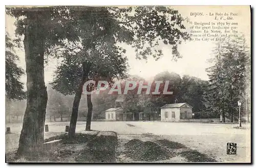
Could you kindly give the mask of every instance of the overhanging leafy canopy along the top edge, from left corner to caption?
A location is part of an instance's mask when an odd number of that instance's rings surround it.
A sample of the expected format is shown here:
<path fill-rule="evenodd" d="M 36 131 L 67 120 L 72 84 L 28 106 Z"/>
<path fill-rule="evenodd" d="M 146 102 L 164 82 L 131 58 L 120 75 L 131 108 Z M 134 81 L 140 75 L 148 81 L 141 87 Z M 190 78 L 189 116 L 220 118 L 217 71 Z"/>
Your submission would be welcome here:
<path fill-rule="evenodd" d="M 159 49 L 159 42 L 162 41 L 172 45 L 173 58 L 178 59 L 181 58 L 178 44 L 189 39 L 183 25 L 185 19 L 177 10 L 168 7 L 24 7 L 7 8 L 7 13 L 17 18 L 16 35 L 23 35 L 33 21 L 41 26 L 45 35 L 41 38 L 46 39 L 48 54 L 52 52 L 50 48 L 53 45 L 63 43 L 62 39 L 77 40 L 82 33 L 88 39 L 82 44 L 86 48 L 93 44 L 92 40 L 109 35 L 110 42 L 115 39 L 135 47 L 139 59 L 146 59 L 147 56 L 158 59 L 162 55 Z M 28 19 L 32 16 L 33 20 Z"/>

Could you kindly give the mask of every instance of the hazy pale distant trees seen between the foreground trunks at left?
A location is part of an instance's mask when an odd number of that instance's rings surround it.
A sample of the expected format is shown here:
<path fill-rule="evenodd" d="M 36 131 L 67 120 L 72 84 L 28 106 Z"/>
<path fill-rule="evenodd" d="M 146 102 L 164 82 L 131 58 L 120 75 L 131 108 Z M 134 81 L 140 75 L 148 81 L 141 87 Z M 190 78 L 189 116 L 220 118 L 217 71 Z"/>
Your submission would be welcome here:
<path fill-rule="evenodd" d="M 72 103 L 74 95 L 63 95 L 52 89 L 51 85 L 47 85 L 48 103 L 46 109 L 46 118 L 48 122 L 69 121 L 72 111 Z M 92 103 L 94 113 L 100 114 L 105 109 L 115 105 L 115 95 L 108 95 L 108 92 L 92 95 Z M 13 100 L 6 98 L 6 122 L 22 122 L 21 117 L 24 116 L 26 110 L 26 100 Z M 87 100 L 86 97 L 81 98 L 78 118 L 86 118 L 87 116 Z"/>

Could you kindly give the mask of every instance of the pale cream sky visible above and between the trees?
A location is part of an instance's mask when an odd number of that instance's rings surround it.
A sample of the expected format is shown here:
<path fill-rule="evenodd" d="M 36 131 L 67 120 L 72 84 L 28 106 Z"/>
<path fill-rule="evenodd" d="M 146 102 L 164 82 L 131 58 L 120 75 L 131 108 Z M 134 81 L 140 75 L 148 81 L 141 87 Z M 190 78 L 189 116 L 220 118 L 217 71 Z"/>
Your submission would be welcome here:
<path fill-rule="evenodd" d="M 218 12 L 233 12 L 238 13 L 238 16 L 234 18 L 239 24 L 239 32 L 245 34 L 247 41 L 250 41 L 250 12 L 249 7 L 234 7 L 234 6 L 222 6 L 222 7 L 209 7 L 209 6 L 174 6 L 174 9 L 178 10 L 183 17 L 188 17 L 191 22 L 209 22 L 212 21 L 212 16 L 209 16 L 209 12 L 218 13 Z M 203 12 L 208 14 L 207 16 L 190 16 L 190 13 Z M 10 16 L 6 16 L 6 31 L 14 35 L 15 26 L 13 25 L 15 19 Z M 190 23 L 184 23 L 188 32 L 190 32 Z M 181 77 L 183 75 L 194 76 L 201 78 L 203 80 L 208 80 L 207 73 L 205 68 L 210 65 L 207 63 L 207 60 L 213 58 L 211 54 L 212 49 L 215 46 L 215 42 L 206 42 L 206 41 L 187 41 L 179 45 L 178 51 L 180 52 L 182 58 L 178 59 L 177 62 L 172 60 L 172 50 L 169 45 L 161 45 L 160 47 L 163 50 L 163 56 L 159 60 L 155 60 L 152 57 L 149 57 L 147 61 L 137 60 L 135 58 L 135 51 L 129 45 L 122 45 L 126 49 L 126 56 L 129 63 L 130 75 L 138 75 L 146 80 L 152 79 L 158 73 L 162 71 L 175 72 Z M 26 69 L 25 65 L 25 54 L 22 50 L 16 51 L 17 55 L 20 58 L 18 65 Z M 52 81 L 53 72 L 58 64 L 57 60 L 49 61 L 48 65 L 45 67 L 45 82 L 49 83 Z M 22 82 L 26 84 L 26 76 L 22 77 Z"/>

